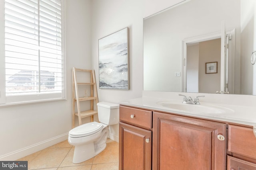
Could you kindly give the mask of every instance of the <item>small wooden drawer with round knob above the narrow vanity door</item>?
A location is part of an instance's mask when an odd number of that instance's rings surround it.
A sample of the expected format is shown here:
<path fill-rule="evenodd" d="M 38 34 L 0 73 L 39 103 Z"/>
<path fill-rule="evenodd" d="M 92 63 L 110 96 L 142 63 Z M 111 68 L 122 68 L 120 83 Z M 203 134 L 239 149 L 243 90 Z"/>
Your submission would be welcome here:
<path fill-rule="evenodd" d="M 152 128 L 152 111 L 120 106 L 119 119 L 121 122 L 126 122 L 145 129 Z"/>

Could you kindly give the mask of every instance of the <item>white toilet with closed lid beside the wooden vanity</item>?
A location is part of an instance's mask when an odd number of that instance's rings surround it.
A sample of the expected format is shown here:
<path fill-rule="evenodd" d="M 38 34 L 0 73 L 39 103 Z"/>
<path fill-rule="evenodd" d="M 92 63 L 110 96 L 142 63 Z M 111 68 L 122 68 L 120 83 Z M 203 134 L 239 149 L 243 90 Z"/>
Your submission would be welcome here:
<path fill-rule="evenodd" d="M 73 163 L 78 164 L 88 160 L 106 148 L 109 135 L 108 125 L 119 122 L 119 104 L 99 102 L 98 119 L 75 127 L 68 133 L 68 143 L 75 146 Z"/>

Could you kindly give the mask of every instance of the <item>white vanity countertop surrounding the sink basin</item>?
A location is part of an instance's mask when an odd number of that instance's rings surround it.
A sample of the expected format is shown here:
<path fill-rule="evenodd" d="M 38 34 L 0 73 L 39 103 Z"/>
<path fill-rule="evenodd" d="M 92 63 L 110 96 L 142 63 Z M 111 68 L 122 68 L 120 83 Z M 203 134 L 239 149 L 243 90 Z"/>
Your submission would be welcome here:
<path fill-rule="evenodd" d="M 135 98 L 135 99 L 120 102 L 120 104 L 123 104 L 126 106 L 134 106 L 134 107 L 140 107 L 144 109 L 166 111 L 171 113 L 178 113 L 180 115 L 189 115 L 189 116 L 201 117 L 201 118 L 218 120 L 218 121 L 227 121 L 227 122 L 239 123 L 243 125 L 250 125 L 250 126 L 256 125 L 256 109 L 255 107 L 252 107 L 252 106 L 239 106 L 239 105 L 230 105 L 230 104 L 200 102 L 200 106 L 213 106 L 213 108 L 214 107 L 216 107 L 217 109 L 223 108 L 225 110 L 224 113 L 200 113 L 195 111 L 191 112 L 191 111 L 184 111 L 184 110 L 164 107 L 162 106 L 162 103 L 182 104 L 182 100 L 142 97 L 142 98 Z M 190 105 L 190 104 L 184 104 L 184 105 Z M 194 105 L 192 107 L 196 107 L 196 106 Z"/>

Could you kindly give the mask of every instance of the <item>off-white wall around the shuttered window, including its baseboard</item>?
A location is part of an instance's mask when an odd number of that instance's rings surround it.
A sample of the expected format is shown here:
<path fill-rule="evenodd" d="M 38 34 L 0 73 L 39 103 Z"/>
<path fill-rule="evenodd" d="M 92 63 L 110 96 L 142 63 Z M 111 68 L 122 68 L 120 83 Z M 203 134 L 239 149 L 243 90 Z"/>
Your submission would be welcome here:
<path fill-rule="evenodd" d="M 67 139 L 72 67 L 91 69 L 90 9 L 90 0 L 66 0 L 67 100 L 0 107 L 0 160 L 16 160 Z"/>

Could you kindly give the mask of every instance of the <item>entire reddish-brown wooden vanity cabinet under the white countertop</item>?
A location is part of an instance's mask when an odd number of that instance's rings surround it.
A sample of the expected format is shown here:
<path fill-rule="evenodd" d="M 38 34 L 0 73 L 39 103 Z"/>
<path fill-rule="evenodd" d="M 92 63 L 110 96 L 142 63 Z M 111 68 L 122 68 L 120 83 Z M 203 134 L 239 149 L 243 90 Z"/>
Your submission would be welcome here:
<path fill-rule="evenodd" d="M 120 105 L 119 170 L 256 170 L 248 125 Z"/>

